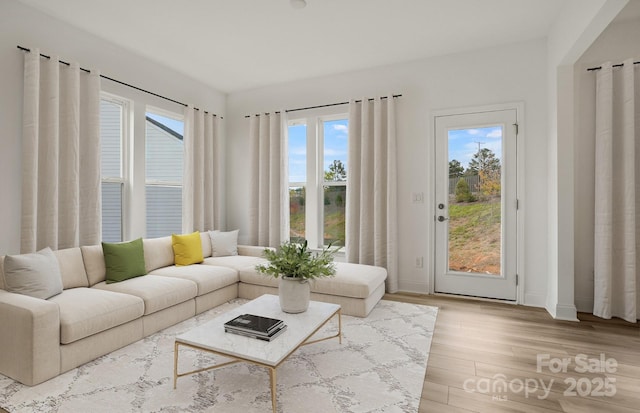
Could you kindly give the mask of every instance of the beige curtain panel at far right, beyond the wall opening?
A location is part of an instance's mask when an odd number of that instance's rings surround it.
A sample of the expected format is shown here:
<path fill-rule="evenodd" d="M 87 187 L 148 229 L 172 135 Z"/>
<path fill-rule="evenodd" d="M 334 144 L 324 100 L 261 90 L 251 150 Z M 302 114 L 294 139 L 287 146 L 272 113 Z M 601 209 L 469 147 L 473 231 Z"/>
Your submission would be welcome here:
<path fill-rule="evenodd" d="M 631 323 L 640 309 L 640 65 L 596 75 L 593 314 Z"/>

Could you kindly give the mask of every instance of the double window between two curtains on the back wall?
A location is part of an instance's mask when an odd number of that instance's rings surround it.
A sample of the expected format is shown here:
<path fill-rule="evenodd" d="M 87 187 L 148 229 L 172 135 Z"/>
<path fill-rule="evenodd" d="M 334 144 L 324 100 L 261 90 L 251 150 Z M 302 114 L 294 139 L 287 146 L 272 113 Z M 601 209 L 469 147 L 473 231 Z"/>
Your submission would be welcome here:
<path fill-rule="evenodd" d="M 345 115 L 291 120 L 290 240 L 321 248 L 345 242 L 347 135 Z"/>

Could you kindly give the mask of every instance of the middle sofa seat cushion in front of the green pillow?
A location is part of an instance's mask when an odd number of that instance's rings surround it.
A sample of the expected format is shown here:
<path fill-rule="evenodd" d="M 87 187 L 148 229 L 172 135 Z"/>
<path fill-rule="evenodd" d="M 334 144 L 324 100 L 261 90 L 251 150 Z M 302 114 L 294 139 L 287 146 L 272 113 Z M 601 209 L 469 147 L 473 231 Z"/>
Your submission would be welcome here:
<path fill-rule="evenodd" d="M 190 280 L 159 275 L 144 275 L 107 284 L 101 282 L 91 288 L 131 294 L 144 301 L 144 315 L 169 308 L 196 297 L 198 287 Z"/>

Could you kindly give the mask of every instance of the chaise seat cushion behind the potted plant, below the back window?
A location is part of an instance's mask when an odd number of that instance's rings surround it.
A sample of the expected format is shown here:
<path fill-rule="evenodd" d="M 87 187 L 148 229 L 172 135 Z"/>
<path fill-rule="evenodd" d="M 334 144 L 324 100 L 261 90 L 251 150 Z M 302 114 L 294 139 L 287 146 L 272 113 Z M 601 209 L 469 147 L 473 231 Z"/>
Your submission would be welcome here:
<path fill-rule="evenodd" d="M 387 279 L 387 270 L 363 264 L 336 262 L 336 275 L 311 281 L 311 292 L 342 297 L 367 298 Z M 244 267 L 238 271 L 245 284 L 278 287 L 278 279 Z"/>

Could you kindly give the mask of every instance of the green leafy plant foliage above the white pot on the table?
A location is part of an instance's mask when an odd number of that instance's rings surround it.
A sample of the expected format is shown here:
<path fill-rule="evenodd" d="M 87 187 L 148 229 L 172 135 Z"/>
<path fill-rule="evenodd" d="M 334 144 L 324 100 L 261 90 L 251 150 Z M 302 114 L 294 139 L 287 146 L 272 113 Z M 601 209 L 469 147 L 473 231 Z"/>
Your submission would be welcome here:
<path fill-rule="evenodd" d="M 331 244 L 318 253 L 314 253 L 304 244 L 284 242 L 277 249 L 265 249 L 264 257 L 269 264 L 260 264 L 256 270 L 260 273 L 278 277 L 294 277 L 310 280 L 320 277 L 333 277 L 336 273 L 333 255 L 339 250 L 331 249 Z"/>

